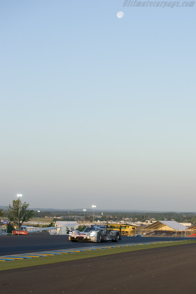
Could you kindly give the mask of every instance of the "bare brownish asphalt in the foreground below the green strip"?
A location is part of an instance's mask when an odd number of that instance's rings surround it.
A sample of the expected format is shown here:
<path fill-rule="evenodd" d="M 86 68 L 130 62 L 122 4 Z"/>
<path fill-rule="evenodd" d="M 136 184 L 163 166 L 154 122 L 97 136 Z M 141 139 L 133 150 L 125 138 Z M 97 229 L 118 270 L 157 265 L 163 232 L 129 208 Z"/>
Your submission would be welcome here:
<path fill-rule="evenodd" d="M 1 271 L 1 294 L 195 293 L 196 244 Z"/>

